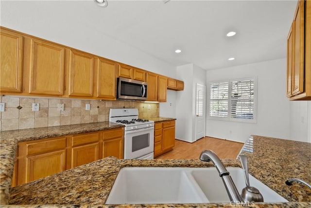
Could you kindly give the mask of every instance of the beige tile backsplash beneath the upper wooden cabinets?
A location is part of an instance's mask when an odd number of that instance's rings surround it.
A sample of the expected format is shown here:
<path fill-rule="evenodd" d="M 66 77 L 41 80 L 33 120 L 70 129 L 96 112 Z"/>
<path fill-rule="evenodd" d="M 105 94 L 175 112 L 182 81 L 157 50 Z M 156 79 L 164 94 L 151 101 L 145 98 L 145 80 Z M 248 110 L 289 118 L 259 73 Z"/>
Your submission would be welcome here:
<path fill-rule="evenodd" d="M 1 131 L 108 121 L 110 108 L 138 108 L 139 118 L 159 116 L 159 103 L 10 95 L 0 97 L 0 102 L 5 103 L 5 111 L 0 113 Z M 33 103 L 39 103 L 39 111 L 32 111 Z M 64 111 L 58 110 L 58 104 L 64 104 Z M 86 110 L 86 104 L 90 104 L 90 110 Z"/>

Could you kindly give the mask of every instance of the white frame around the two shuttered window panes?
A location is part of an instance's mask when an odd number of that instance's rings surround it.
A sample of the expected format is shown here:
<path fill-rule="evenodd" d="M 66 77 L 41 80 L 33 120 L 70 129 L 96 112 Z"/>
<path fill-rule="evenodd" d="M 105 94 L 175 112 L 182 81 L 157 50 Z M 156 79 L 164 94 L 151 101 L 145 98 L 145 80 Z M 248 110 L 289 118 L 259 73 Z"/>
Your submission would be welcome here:
<path fill-rule="evenodd" d="M 253 108 L 253 119 L 246 119 L 246 118 L 231 118 L 231 89 L 232 89 L 232 82 L 235 81 L 247 81 L 247 80 L 254 80 L 254 108 Z M 218 117 L 218 116 L 211 116 L 210 115 L 210 85 L 216 83 L 224 83 L 228 82 L 228 110 L 227 110 L 227 117 Z M 243 123 L 257 123 L 257 76 L 253 77 L 244 77 L 244 78 L 236 78 L 236 79 L 224 79 L 224 80 L 217 80 L 217 81 L 210 81 L 208 88 L 208 102 L 207 102 L 207 109 L 208 109 L 208 119 L 211 120 L 222 120 L 222 121 L 233 121 L 233 122 L 243 122 Z"/>

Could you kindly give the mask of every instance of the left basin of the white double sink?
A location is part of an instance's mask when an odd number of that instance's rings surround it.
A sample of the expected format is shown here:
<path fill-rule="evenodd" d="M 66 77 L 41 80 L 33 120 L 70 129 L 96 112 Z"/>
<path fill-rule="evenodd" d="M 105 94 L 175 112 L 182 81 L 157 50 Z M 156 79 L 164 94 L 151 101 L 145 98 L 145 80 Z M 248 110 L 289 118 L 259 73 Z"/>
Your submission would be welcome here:
<path fill-rule="evenodd" d="M 105 204 L 208 203 L 185 168 L 123 168 Z"/>

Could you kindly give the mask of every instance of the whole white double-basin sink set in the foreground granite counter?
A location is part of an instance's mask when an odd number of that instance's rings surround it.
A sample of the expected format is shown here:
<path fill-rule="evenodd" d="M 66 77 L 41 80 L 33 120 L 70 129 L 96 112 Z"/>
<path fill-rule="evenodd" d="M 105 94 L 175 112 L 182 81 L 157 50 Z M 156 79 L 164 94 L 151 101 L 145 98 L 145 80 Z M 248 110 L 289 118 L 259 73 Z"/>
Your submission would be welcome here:
<path fill-rule="evenodd" d="M 245 187 L 243 170 L 228 167 L 237 189 Z M 288 202 L 249 175 L 264 202 Z M 105 204 L 230 203 L 216 168 L 123 168 Z"/>

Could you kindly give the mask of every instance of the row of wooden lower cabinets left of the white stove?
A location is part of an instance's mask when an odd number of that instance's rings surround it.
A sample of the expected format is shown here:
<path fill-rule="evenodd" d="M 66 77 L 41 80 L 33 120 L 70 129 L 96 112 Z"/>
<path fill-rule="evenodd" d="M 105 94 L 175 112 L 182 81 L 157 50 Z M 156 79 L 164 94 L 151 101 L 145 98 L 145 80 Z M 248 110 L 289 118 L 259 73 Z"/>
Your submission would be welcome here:
<path fill-rule="evenodd" d="M 12 187 L 93 162 L 123 158 L 124 128 L 19 142 Z"/>

